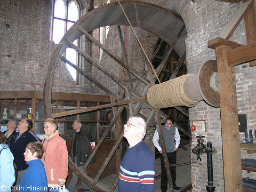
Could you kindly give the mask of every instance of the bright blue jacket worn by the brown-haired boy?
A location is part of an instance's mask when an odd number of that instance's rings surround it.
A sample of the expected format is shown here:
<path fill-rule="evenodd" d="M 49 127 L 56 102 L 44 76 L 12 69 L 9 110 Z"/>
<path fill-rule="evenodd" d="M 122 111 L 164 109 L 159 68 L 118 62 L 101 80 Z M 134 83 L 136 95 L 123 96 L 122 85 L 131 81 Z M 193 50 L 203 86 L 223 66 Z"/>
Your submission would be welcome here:
<path fill-rule="evenodd" d="M 27 162 L 28 169 L 20 181 L 19 191 L 48 192 L 47 178 L 41 159 Z"/>

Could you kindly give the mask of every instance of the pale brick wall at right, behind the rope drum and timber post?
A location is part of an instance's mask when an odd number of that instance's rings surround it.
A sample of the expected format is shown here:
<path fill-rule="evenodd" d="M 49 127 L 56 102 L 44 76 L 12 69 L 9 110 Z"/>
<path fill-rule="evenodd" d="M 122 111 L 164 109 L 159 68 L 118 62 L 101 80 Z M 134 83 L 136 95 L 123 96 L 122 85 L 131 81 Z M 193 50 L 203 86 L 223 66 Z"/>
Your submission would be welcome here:
<path fill-rule="evenodd" d="M 225 29 L 227 22 L 236 13 L 239 3 L 223 3 L 218 1 L 168 1 L 167 7 L 170 10 L 177 11 L 185 21 L 187 29 L 186 55 L 187 55 L 187 73 L 196 74 L 199 67 L 207 60 L 215 60 L 215 51 L 207 47 L 210 39 L 218 37 Z M 181 8 L 182 7 L 182 8 Z M 221 17 L 219 16 L 221 15 Z M 246 44 L 244 23 L 242 22 L 236 29 L 230 40 L 237 43 Z M 254 129 L 255 118 L 255 67 L 250 68 L 248 64 L 235 67 L 238 113 L 247 114 L 248 129 Z M 249 88 L 250 87 L 250 88 Z M 204 119 L 206 121 L 206 132 L 204 143 L 211 141 L 217 149 L 217 154 L 213 154 L 213 181 L 217 187 L 215 191 L 224 191 L 223 183 L 223 159 L 222 159 L 222 137 L 220 123 L 220 109 L 207 105 L 204 101 L 197 106 L 189 109 L 190 126 L 193 120 Z M 196 135 L 192 134 L 191 148 L 197 144 Z M 242 138 L 242 136 L 241 136 Z M 241 150 L 242 158 L 254 158 L 255 154 L 247 155 Z M 196 156 L 191 153 L 191 160 Z M 191 181 L 193 191 L 205 191 L 207 185 L 207 162 L 206 154 L 202 155 L 202 162 L 193 164 L 191 169 Z M 255 179 L 254 173 L 243 171 L 243 177 Z"/>

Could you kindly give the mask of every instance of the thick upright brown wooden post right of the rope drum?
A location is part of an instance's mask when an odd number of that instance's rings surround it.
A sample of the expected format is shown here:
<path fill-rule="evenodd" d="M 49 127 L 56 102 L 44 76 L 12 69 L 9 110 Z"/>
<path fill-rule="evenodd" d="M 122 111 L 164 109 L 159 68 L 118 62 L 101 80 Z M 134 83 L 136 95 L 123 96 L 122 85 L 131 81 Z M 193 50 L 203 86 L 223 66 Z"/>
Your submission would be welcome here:
<path fill-rule="evenodd" d="M 227 52 L 231 49 L 228 45 L 216 47 L 226 192 L 242 191 L 243 187 L 235 70 L 234 66 L 228 66 L 227 60 Z"/>

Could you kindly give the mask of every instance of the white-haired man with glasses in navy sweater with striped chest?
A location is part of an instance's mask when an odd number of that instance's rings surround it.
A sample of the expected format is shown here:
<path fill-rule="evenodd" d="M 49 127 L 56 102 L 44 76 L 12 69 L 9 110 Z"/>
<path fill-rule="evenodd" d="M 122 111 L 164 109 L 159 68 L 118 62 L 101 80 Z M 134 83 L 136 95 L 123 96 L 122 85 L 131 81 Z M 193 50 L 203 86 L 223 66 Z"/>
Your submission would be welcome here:
<path fill-rule="evenodd" d="M 129 143 L 120 166 L 119 192 L 154 191 L 155 159 L 142 139 L 146 122 L 140 117 L 130 117 L 124 125 L 124 137 Z"/>

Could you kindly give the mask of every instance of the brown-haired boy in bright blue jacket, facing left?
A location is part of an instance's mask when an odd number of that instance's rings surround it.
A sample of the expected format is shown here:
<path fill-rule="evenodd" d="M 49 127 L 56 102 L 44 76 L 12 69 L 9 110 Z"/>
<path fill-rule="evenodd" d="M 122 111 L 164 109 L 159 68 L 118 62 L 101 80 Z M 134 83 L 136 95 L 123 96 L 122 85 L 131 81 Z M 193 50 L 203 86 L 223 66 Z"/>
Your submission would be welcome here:
<path fill-rule="evenodd" d="M 24 156 L 28 168 L 20 181 L 19 191 L 48 191 L 46 173 L 41 161 L 43 153 L 44 149 L 39 141 L 30 142 L 26 146 Z"/>

